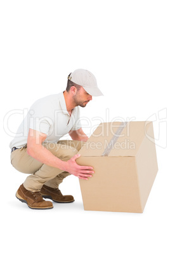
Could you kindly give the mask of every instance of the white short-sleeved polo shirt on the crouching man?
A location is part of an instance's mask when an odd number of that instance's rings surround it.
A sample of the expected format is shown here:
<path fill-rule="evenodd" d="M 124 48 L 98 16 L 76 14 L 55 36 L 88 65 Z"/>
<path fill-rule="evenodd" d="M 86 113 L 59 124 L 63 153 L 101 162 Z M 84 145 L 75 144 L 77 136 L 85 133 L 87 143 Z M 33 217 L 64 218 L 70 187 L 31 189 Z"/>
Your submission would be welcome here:
<path fill-rule="evenodd" d="M 63 92 L 43 97 L 30 107 L 27 116 L 18 127 L 15 138 L 10 143 L 10 148 L 25 146 L 29 129 L 47 134 L 44 142 L 58 142 L 69 131 L 81 128 L 79 117 L 79 106 L 75 107 L 69 115 Z"/>

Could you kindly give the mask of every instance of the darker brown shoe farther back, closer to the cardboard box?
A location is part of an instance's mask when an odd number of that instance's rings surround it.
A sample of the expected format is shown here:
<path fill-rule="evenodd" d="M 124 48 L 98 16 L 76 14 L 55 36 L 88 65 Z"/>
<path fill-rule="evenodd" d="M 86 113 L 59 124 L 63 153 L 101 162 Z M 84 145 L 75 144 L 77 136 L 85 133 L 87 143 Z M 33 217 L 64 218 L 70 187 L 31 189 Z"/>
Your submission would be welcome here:
<path fill-rule="evenodd" d="M 74 202 L 73 196 L 63 196 L 58 188 L 51 188 L 43 185 L 41 188 L 41 195 L 44 198 L 53 200 L 56 203 L 72 203 Z"/>

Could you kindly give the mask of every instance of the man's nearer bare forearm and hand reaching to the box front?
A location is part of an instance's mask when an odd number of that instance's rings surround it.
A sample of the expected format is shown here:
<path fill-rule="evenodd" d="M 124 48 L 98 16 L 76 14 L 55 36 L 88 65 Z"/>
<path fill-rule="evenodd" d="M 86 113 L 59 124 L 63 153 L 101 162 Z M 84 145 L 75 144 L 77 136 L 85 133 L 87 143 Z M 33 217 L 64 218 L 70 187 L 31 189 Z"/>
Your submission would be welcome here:
<path fill-rule="evenodd" d="M 74 157 L 72 157 L 67 162 L 62 161 L 42 145 L 42 142 L 45 139 L 46 134 L 35 131 L 33 129 L 29 129 L 29 136 L 27 139 L 27 153 L 43 164 L 67 171 L 71 174 L 74 174 L 78 178 L 88 180 L 88 177 L 91 177 L 91 173 L 94 173 L 93 167 L 79 166 L 75 162 L 75 160 L 80 157 L 79 154 L 74 155 Z"/>

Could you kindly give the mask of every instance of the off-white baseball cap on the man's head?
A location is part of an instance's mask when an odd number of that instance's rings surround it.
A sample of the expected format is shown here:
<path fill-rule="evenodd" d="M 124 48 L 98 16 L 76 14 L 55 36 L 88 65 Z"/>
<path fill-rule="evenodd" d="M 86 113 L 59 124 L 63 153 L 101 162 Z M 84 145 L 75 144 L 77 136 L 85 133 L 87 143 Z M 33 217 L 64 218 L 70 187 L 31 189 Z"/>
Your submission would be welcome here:
<path fill-rule="evenodd" d="M 95 76 L 86 69 L 76 69 L 70 73 L 68 79 L 77 85 L 81 85 L 91 96 L 103 95 L 101 90 L 98 89 Z"/>

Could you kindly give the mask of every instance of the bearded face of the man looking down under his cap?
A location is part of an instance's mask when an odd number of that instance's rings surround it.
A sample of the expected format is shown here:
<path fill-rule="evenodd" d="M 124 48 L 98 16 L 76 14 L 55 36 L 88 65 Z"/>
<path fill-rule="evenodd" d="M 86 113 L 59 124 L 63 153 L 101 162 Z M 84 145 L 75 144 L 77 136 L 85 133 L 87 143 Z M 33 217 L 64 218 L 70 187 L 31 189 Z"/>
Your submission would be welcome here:
<path fill-rule="evenodd" d="M 81 106 L 82 108 L 84 108 L 86 104 L 88 104 L 88 102 L 92 100 L 92 96 L 88 94 L 88 92 L 86 92 L 83 87 L 81 87 L 80 90 L 77 90 L 73 99 L 74 103 L 77 106 Z"/>

